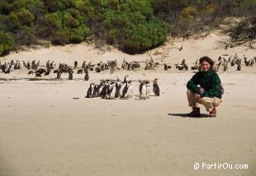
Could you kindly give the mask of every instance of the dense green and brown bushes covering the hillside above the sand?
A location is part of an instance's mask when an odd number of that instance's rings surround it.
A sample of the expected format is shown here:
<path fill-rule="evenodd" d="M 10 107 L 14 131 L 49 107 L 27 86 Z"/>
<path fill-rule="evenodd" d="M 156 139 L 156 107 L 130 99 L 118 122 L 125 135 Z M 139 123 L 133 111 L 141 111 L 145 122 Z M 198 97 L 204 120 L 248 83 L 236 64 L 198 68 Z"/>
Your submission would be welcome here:
<path fill-rule="evenodd" d="M 0 55 L 39 39 L 100 39 L 127 53 L 224 16 L 255 16 L 256 0 L 1 0 Z"/>

